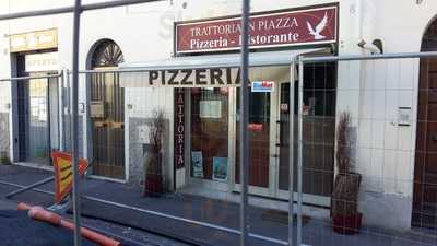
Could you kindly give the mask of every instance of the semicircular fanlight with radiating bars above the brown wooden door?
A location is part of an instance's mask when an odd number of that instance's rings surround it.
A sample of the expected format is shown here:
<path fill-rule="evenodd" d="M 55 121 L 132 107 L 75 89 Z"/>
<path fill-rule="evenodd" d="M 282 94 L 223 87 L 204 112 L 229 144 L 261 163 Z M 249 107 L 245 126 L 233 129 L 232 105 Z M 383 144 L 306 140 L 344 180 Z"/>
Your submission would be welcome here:
<path fill-rule="evenodd" d="M 110 39 L 102 40 L 91 59 L 92 68 L 118 67 L 125 61 L 120 47 Z"/>

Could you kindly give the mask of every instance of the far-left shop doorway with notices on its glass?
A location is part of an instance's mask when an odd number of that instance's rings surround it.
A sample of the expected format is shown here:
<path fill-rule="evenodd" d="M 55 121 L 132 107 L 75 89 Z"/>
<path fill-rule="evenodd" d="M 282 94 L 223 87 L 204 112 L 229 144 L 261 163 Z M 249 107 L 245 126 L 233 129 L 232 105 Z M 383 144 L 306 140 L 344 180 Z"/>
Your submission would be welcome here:
<path fill-rule="evenodd" d="M 59 80 L 57 52 L 17 56 L 19 74 L 32 79 L 16 84 L 19 162 L 51 164 L 51 151 L 60 147 Z"/>

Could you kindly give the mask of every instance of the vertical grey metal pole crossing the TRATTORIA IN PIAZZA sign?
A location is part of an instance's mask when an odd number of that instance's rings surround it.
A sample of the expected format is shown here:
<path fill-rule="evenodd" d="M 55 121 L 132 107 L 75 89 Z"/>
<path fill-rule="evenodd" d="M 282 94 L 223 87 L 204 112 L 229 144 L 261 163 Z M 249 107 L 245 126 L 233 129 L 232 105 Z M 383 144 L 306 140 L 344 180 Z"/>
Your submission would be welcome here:
<path fill-rule="evenodd" d="M 247 126 L 249 121 L 249 96 L 248 96 L 248 81 L 249 81 L 249 12 L 250 0 L 243 0 L 241 13 L 241 89 L 240 89 L 240 183 L 241 183 L 241 203 L 240 203 L 240 246 L 249 245 L 248 234 L 249 224 L 247 218 L 248 207 L 248 185 L 249 185 L 249 149 L 247 138 Z"/>

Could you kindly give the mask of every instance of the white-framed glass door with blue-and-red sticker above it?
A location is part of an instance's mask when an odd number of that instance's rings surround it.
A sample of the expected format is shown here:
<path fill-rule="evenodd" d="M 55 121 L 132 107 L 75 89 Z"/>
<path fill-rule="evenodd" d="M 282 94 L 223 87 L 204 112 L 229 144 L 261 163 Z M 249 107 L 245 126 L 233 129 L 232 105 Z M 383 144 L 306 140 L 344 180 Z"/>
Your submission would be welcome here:
<path fill-rule="evenodd" d="M 274 197 L 276 192 L 276 118 L 279 84 L 290 81 L 290 67 L 252 67 L 249 70 L 249 192 Z M 239 89 L 236 90 L 235 184 L 239 189 Z"/>

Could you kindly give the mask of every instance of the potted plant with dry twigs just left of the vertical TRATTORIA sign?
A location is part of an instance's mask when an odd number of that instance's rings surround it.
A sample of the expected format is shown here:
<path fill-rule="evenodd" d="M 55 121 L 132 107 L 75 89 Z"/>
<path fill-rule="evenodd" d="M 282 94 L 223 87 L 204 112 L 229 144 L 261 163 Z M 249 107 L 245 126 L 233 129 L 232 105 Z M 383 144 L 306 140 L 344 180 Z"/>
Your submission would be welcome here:
<path fill-rule="evenodd" d="M 163 143 L 165 141 L 164 110 L 155 109 L 149 126 L 149 144 L 144 157 L 145 196 L 160 196 L 163 192 Z"/>

